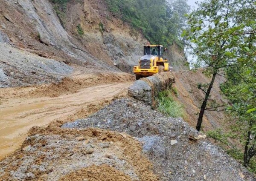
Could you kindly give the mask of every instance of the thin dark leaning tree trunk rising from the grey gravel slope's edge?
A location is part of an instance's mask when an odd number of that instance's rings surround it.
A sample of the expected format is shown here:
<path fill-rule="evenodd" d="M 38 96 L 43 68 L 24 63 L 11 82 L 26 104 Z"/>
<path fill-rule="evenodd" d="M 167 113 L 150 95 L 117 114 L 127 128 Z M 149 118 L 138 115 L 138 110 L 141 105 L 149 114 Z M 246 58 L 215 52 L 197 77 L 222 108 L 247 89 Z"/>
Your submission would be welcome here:
<path fill-rule="evenodd" d="M 204 98 L 204 101 L 202 103 L 202 106 L 201 106 L 201 109 L 200 109 L 200 113 L 199 113 L 199 117 L 198 117 L 198 123 L 196 125 L 196 129 L 198 131 L 200 131 L 201 129 L 201 125 L 202 125 L 202 122 L 203 122 L 203 117 L 204 117 L 204 111 L 205 111 L 205 108 L 207 106 L 207 101 L 209 99 L 209 95 L 211 93 L 211 90 L 212 90 L 212 86 L 213 86 L 213 83 L 214 83 L 214 80 L 215 80 L 215 77 L 217 75 L 217 71 L 214 71 L 213 74 L 212 74 L 212 80 L 211 80 L 211 83 L 207 89 L 207 92 L 206 92 L 206 95 L 205 95 L 205 98 Z"/>

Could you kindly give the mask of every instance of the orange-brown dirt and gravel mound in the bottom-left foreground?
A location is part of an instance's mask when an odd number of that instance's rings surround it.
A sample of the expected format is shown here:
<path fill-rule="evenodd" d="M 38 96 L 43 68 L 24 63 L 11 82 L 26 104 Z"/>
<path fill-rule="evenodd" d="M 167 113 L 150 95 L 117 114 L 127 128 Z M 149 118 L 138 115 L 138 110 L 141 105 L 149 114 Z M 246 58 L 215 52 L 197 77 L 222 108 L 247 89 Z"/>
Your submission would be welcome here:
<path fill-rule="evenodd" d="M 117 180 L 157 180 L 140 143 L 129 135 L 58 127 L 34 128 L 31 132 L 19 150 L 0 162 L 3 181 L 70 177 L 101 181 L 103 176 L 106 180 L 116 180 L 116 176 Z"/>

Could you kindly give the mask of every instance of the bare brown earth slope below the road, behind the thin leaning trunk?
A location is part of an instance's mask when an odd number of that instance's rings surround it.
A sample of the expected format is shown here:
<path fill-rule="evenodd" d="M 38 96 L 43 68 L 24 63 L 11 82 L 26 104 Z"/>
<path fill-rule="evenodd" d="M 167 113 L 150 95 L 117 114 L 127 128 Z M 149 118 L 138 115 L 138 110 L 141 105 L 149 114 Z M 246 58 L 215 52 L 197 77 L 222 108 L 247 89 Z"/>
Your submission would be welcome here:
<path fill-rule="evenodd" d="M 186 121 L 193 127 L 197 124 L 200 106 L 204 100 L 204 92 L 198 89 L 198 83 L 209 83 L 211 78 L 204 75 L 203 70 L 173 72 L 175 75 L 175 84 L 177 89 L 177 99 L 180 101 L 188 114 Z M 212 92 L 208 101 L 208 106 L 223 105 L 227 103 L 224 96 L 221 95 L 220 85 L 225 80 L 217 76 L 212 87 Z M 222 109 L 222 108 L 220 108 Z M 227 117 L 224 111 L 206 111 L 204 115 L 202 129 L 204 131 L 227 127 Z"/>

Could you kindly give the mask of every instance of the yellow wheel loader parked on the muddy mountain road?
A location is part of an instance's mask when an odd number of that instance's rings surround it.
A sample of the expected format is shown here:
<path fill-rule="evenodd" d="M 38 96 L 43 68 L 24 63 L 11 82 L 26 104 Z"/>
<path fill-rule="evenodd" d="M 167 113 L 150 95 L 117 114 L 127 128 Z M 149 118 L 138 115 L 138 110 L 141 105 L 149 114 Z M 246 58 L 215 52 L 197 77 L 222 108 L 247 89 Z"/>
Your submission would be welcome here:
<path fill-rule="evenodd" d="M 144 56 L 140 58 L 139 65 L 134 66 L 136 80 L 160 72 L 169 72 L 168 60 L 163 59 L 165 49 L 162 45 L 144 45 Z"/>

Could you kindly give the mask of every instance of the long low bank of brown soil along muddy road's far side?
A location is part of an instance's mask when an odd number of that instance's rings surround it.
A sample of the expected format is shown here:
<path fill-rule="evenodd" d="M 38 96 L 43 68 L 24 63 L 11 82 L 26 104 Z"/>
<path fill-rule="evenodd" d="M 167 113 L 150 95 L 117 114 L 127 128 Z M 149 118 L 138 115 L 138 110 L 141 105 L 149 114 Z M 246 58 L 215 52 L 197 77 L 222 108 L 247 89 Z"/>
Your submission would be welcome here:
<path fill-rule="evenodd" d="M 10 98 L 53 98 L 64 94 L 73 94 L 79 92 L 81 89 L 91 86 L 105 85 L 116 82 L 129 83 L 134 81 L 134 79 L 134 75 L 121 72 L 102 72 L 89 75 L 81 74 L 63 78 L 60 83 L 0 89 L 0 94 L 5 95 L 3 101 L 8 101 Z"/>

